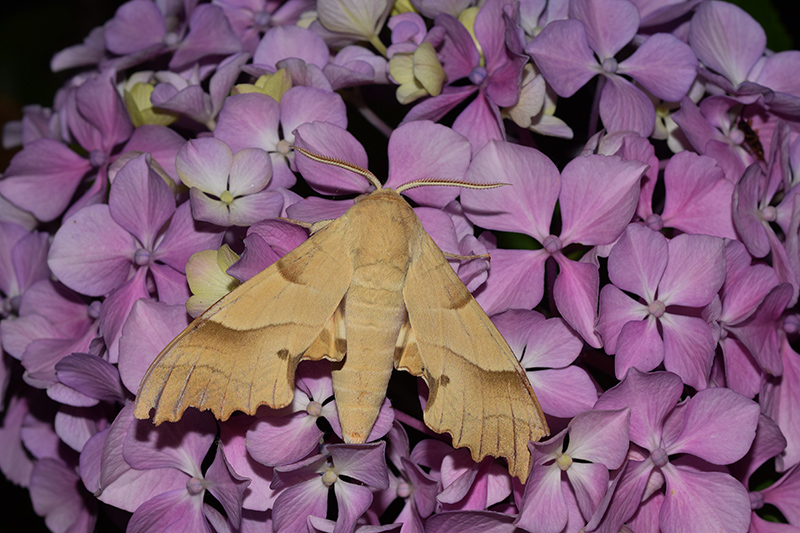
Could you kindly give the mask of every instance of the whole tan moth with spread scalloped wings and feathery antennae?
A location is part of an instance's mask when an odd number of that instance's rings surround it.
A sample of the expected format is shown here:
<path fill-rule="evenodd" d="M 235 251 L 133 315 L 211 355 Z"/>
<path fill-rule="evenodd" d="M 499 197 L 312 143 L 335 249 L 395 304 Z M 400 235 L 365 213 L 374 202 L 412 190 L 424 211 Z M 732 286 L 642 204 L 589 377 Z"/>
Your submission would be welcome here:
<path fill-rule="evenodd" d="M 425 424 L 447 432 L 477 462 L 505 457 L 525 481 L 528 443 L 548 427 L 525 371 L 400 192 L 368 170 L 295 147 L 357 172 L 375 190 L 341 217 L 312 226 L 303 244 L 212 305 L 158 355 L 136 396 L 135 416 L 177 421 L 188 407 L 226 420 L 235 411 L 291 403 L 300 361 L 332 362 L 345 442 L 363 443 L 392 369 L 421 377 Z M 493 185 L 496 186 L 496 185 Z"/>

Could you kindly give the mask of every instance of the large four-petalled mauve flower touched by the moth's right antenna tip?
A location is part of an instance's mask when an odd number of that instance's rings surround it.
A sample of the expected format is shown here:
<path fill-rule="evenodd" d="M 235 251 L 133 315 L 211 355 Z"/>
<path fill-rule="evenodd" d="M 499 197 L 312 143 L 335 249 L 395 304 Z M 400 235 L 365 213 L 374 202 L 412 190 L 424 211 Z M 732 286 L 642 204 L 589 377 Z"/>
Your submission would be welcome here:
<path fill-rule="evenodd" d="M 467 179 L 501 175 L 510 187 L 466 190 L 461 201 L 476 224 L 500 231 L 530 235 L 539 250 L 492 250 L 492 268 L 478 302 L 494 314 L 509 308 L 531 308 L 544 294 L 545 261 L 560 268 L 553 295 L 561 316 L 590 345 L 602 345 L 594 331 L 598 268 L 570 259 L 572 244 L 596 246 L 614 242 L 630 221 L 639 195 L 645 165 L 618 157 L 578 157 L 559 175 L 555 165 L 532 148 L 492 141 L 470 165 Z M 559 235 L 551 234 L 556 202 L 561 206 Z"/>

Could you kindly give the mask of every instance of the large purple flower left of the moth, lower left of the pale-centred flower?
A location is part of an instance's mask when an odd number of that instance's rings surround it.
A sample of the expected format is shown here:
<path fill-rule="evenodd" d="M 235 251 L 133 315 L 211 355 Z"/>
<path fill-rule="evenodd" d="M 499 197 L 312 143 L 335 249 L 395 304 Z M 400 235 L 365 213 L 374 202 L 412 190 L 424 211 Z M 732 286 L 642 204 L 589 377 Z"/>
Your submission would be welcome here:
<path fill-rule="evenodd" d="M 192 220 L 188 203 L 176 209 L 169 186 L 150 157 L 141 155 L 117 173 L 108 205 L 86 207 L 61 227 L 49 265 L 77 292 L 108 295 L 100 331 L 116 362 L 122 325 L 133 303 L 149 296 L 147 275 L 153 276 L 160 301 L 184 304 L 186 261 L 196 251 L 218 247 L 220 239 L 218 228 L 201 228 Z"/>

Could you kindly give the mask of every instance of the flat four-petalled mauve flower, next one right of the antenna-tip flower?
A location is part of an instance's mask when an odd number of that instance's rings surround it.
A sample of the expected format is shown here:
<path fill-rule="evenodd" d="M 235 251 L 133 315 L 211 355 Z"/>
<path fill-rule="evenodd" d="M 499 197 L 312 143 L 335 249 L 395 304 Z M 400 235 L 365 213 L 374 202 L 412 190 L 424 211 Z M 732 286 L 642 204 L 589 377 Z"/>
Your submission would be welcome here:
<path fill-rule="evenodd" d="M 617 379 L 631 367 L 646 372 L 663 361 L 687 385 L 705 388 L 715 339 L 698 315 L 725 280 L 722 239 L 683 234 L 667 241 L 631 224 L 608 256 L 608 275 L 597 331 L 616 355 Z"/>

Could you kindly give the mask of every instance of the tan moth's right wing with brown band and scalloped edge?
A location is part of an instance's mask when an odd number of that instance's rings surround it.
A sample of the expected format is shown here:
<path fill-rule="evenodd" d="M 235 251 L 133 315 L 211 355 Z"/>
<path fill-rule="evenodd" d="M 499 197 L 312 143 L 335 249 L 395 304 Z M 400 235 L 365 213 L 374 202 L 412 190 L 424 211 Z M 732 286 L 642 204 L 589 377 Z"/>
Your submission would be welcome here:
<path fill-rule="evenodd" d="M 549 432 L 542 409 L 514 352 L 427 234 L 404 298 L 409 327 L 397 366 L 428 384 L 425 424 L 476 462 L 505 457 L 524 482 L 528 442 Z"/>

